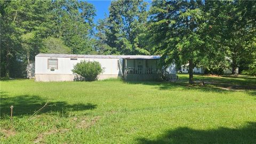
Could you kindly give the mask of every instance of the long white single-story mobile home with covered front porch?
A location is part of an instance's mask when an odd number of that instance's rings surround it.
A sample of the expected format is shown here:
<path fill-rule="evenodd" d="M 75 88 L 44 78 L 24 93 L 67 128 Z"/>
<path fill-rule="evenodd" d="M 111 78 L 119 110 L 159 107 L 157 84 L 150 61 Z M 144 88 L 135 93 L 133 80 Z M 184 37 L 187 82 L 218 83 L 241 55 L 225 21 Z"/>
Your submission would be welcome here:
<path fill-rule="evenodd" d="M 123 77 L 125 80 L 158 81 L 162 78 L 162 69 L 158 67 L 159 55 L 77 55 L 45 54 L 35 57 L 35 81 L 73 81 L 71 71 L 76 63 L 98 61 L 103 73 L 98 79 Z M 169 75 L 175 75 L 175 65 L 167 68 Z"/>

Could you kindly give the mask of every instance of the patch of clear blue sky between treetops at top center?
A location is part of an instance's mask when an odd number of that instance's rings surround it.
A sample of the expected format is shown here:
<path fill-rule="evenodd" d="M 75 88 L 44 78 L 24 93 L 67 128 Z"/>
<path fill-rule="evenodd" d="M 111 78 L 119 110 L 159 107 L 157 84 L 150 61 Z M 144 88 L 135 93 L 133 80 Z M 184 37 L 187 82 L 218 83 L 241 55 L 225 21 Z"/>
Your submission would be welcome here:
<path fill-rule="evenodd" d="M 86 1 L 88 3 L 91 3 L 94 5 L 96 9 L 96 16 L 94 17 L 94 22 L 96 23 L 99 19 L 105 18 L 105 13 L 109 15 L 108 7 L 111 3 L 111 1 L 105 0 L 105 1 Z M 147 1 L 148 3 L 151 3 L 151 1 Z"/>

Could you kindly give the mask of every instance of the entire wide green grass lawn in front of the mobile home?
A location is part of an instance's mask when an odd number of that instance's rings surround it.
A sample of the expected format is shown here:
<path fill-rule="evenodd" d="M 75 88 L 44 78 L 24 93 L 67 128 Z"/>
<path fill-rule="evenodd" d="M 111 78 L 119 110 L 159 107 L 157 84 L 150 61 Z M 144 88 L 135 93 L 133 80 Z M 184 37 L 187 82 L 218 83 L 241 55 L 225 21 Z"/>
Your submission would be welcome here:
<path fill-rule="evenodd" d="M 179 77 L 1 81 L 1 143 L 256 143 L 255 77 Z"/>

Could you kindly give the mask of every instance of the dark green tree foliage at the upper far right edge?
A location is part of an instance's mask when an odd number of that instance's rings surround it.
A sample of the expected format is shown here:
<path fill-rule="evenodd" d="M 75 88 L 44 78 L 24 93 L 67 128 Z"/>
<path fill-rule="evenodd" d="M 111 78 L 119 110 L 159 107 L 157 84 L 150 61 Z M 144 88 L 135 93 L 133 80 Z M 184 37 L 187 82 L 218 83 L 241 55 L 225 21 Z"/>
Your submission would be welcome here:
<path fill-rule="evenodd" d="M 250 45 L 255 37 L 255 7 L 252 1 L 205 2 L 206 19 L 212 29 L 207 36 L 221 48 L 222 57 L 231 59 L 233 74 L 253 57 Z"/>

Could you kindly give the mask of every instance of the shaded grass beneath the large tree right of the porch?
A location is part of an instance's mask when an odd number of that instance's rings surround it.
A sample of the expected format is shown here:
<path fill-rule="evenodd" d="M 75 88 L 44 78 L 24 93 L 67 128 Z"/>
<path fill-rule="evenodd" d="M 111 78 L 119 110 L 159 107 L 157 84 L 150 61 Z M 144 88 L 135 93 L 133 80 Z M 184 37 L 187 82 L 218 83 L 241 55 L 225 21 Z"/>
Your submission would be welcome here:
<path fill-rule="evenodd" d="M 202 75 L 195 75 L 194 81 L 197 84 L 190 85 L 188 83 L 188 77 L 181 75 L 177 82 L 126 82 L 129 84 L 144 84 L 155 85 L 159 90 L 200 90 L 200 91 L 213 91 L 221 93 L 230 93 L 233 91 L 245 91 L 250 95 L 256 95 L 256 78 L 226 78 L 226 77 L 209 77 Z M 201 86 L 198 83 L 200 81 L 205 82 L 205 86 Z"/>

